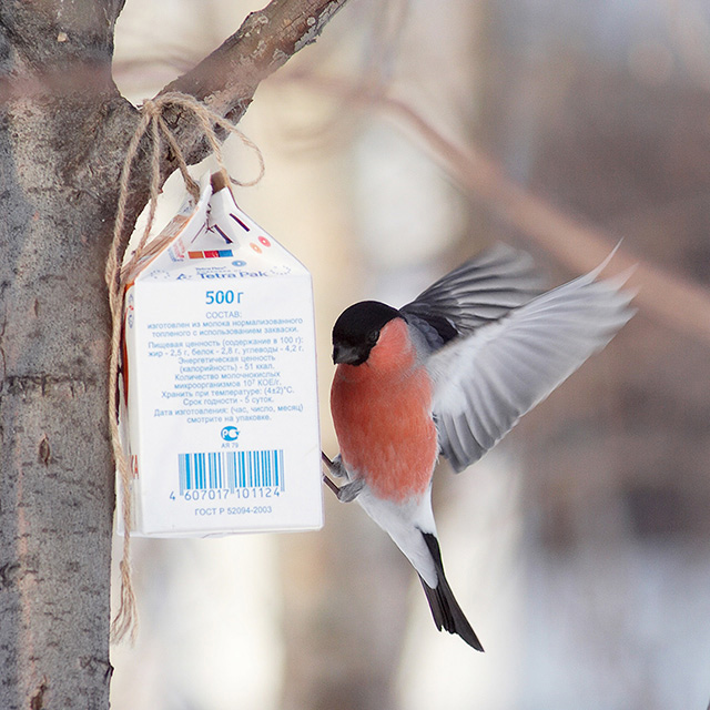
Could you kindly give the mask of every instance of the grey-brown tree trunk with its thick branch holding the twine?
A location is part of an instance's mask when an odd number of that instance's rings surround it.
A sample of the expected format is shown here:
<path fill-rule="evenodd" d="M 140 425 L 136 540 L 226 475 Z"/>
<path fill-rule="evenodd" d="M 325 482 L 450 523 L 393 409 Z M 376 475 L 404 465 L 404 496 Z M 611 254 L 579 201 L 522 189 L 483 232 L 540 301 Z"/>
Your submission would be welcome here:
<path fill-rule="evenodd" d="M 236 121 L 345 0 L 274 0 L 166 87 Z M 0 708 L 109 707 L 113 462 L 104 264 L 138 111 L 123 0 L 0 2 Z M 206 146 L 170 116 L 189 162 Z M 148 199 L 142 153 L 126 236 Z M 174 170 L 168 151 L 162 180 Z"/>

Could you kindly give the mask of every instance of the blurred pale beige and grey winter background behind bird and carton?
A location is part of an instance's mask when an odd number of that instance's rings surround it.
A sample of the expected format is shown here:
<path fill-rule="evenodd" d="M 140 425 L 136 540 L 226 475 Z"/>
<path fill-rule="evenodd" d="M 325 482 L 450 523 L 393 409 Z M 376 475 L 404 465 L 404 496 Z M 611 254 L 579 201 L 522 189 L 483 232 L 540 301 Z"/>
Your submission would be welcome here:
<path fill-rule="evenodd" d="M 263 3 L 128 0 L 116 83 L 154 95 Z M 402 305 L 497 241 L 556 285 L 622 237 L 639 312 L 470 470 L 440 466 L 447 576 L 485 655 L 436 631 L 394 544 L 326 490 L 318 532 L 135 540 L 112 707 L 704 710 L 710 6 L 349 0 L 241 128 L 266 174 L 237 201 L 313 273 L 331 455 L 329 331 L 355 301 Z M 173 176 L 159 222 L 181 199 Z"/>

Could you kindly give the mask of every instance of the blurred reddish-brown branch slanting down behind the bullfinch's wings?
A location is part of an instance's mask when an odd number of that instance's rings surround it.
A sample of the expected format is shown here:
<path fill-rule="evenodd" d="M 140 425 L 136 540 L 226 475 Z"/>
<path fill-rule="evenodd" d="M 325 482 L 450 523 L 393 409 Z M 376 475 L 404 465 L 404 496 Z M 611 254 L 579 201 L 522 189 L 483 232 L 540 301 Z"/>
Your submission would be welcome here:
<path fill-rule="evenodd" d="M 458 145 L 413 105 L 373 91 L 367 84 L 353 84 L 314 74 L 291 73 L 283 81 L 295 81 L 323 91 L 363 110 L 375 109 L 413 131 L 425 150 L 445 172 L 471 196 L 484 201 L 523 236 L 535 241 L 574 272 L 585 273 L 599 265 L 619 241 L 599 227 L 575 220 L 551 203 L 525 190 L 506 176 L 500 163 L 473 145 Z M 710 345 L 710 291 L 680 275 L 632 256 L 625 245 L 615 255 L 607 274 L 635 268 L 628 286 L 638 290 L 635 305 L 645 308 L 666 327 Z"/>

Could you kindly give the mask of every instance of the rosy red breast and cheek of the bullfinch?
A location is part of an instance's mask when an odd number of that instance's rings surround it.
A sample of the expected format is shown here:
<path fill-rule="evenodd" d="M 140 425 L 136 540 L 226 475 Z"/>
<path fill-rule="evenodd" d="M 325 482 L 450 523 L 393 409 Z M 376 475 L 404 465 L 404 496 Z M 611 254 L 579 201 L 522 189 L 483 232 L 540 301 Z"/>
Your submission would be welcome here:
<path fill-rule="evenodd" d="M 382 328 L 365 363 L 337 366 L 331 410 L 345 466 L 377 497 L 400 503 L 427 489 L 438 453 L 432 381 L 402 318 Z"/>

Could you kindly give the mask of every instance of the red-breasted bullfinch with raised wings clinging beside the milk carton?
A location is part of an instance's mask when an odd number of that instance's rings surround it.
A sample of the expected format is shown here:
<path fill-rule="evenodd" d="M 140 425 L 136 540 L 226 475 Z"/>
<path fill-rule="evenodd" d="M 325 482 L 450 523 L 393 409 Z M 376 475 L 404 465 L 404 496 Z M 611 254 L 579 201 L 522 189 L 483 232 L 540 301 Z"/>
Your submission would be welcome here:
<path fill-rule="evenodd" d="M 483 646 L 444 575 L 432 511 L 439 455 L 456 473 L 491 448 L 631 317 L 626 277 L 598 268 L 542 293 L 530 257 L 498 245 L 412 303 L 364 301 L 333 327 L 331 473 L 417 571 L 437 629 Z"/>

